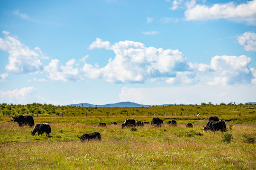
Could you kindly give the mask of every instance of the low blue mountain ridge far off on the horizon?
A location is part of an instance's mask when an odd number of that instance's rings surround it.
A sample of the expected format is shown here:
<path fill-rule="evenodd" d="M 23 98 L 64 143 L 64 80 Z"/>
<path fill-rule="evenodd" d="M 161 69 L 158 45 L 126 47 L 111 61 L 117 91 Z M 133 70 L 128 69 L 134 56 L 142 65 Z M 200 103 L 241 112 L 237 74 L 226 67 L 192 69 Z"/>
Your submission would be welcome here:
<path fill-rule="evenodd" d="M 68 106 L 81 106 L 81 107 L 149 107 L 150 105 L 138 104 L 134 102 L 118 102 L 113 104 L 95 105 L 90 103 L 69 104 Z"/>

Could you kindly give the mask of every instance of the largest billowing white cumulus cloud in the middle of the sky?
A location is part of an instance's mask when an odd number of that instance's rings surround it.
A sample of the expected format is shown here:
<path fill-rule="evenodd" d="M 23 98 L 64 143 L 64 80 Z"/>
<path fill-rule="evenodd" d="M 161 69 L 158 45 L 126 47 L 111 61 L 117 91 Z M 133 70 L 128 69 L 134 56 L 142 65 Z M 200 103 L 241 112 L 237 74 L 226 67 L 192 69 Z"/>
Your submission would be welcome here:
<path fill-rule="evenodd" d="M 96 42 L 102 40 L 96 39 Z M 94 42 L 92 44 L 95 44 Z M 99 44 L 99 43 L 98 43 Z M 103 68 L 85 63 L 83 71 L 91 78 L 103 78 L 112 83 L 143 83 L 149 78 L 168 77 L 187 68 L 186 57 L 178 50 L 146 47 L 141 42 L 124 41 L 97 45 L 112 50 L 114 59 Z"/>

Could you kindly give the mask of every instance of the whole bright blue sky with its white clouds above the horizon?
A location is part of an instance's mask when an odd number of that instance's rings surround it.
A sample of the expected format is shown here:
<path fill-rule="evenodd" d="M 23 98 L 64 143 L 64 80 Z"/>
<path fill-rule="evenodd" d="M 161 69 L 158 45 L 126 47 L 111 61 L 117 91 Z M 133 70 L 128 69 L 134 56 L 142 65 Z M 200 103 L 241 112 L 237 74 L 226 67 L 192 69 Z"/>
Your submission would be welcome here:
<path fill-rule="evenodd" d="M 0 103 L 256 102 L 256 0 L 1 0 Z"/>

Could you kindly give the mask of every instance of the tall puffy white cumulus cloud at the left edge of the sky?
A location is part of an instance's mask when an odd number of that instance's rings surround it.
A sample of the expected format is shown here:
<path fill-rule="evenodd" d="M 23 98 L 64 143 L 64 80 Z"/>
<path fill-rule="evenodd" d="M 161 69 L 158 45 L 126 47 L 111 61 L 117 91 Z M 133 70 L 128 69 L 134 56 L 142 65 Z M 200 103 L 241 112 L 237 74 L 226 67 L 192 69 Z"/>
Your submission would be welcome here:
<path fill-rule="evenodd" d="M 42 55 L 40 48 L 29 49 L 9 32 L 4 31 L 5 38 L 0 38 L 0 50 L 9 53 L 9 63 L 6 70 L 15 74 L 38 73 L 43 69 L 40 58 L 46 58 Z"/>

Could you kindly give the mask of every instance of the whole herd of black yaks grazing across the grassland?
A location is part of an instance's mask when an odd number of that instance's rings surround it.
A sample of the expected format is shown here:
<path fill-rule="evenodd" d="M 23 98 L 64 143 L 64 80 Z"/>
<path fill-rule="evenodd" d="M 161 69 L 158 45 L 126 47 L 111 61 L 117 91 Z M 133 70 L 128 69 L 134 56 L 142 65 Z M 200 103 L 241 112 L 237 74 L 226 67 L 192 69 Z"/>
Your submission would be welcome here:
<path fill-rule="evenodd" d="M 12 117 L 13 122 L 18 122 L 18 125 L 20 127 L 24 125 L 29 125 L 29 127 L 32 127 L 35 125 L 34 119 L 32 116 L 23 116 L 19 115 L 16 117 Z M 122 123 L 122 128 L 124 127 L 136 127 L 136 126 L 144 126 L 144 124 L 149 124 L 149 122 L 142 122 L 142 121 L 135 121 L 135 119 L 126 119 L 124 123 Z M 159 118 L 153 118 L 151 121 L 152 127 L 161 127 L 163 124 L 163 120 Z M 168 125 L 177 126 L 177 122 L 175 120 L 168 121 Z M 117 125 L 117 122 L 111 122 L 111 125 Z M 106 123 L 99 123 L 99 127 L 106 127 Z M 186 127 L 193 127 L 192 123 L 188 123 Z M 203 131 L 215 131 L 221 130 L 221 133 L 225 132 L 227 129 L 226 124 L 223 120 L 219 120 L 217 116 L 210 117 L 209 121 L 206 125 L 206 127 L 203 126 Z M 51 127 L 48 123 L 42 123 L 37 124 L 33 131 L 31 131 L 31 135 L 34 136 L 36 133 L 39 135 L 42 135 L 43 133 L 46 133 L 46 136 L 50 136 L 51 133 Z M 77 136 L 81 141 L 84 140 L 90 140 L 90 139 L 98 139 L 101 140 L 101 134 L 99 132 L 94 132 L 91 134 L 83 134 L 82 136 Z"/>

